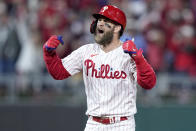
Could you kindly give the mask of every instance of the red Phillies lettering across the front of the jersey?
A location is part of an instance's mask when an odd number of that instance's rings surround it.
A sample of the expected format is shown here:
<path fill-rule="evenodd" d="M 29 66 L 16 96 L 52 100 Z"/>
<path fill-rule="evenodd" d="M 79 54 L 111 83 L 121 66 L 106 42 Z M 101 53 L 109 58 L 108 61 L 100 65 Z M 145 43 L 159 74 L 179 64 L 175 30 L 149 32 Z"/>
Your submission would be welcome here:
<path fill-rule="evenodd" d="M 98 71 L 97 69 L 95 69 L 95 63 L 90 60 L 87 59 L 84 62 L 84 65 L 86 66 L 86 75 L 88 76 L 89 74 L 89 70 L 91 69 L 92 77 L 96 77 L 96 78 L 103 78 L 103 79 L 125 79 L 127 77 L 127 74 L 124 71 L 114 71 L 114 72 L 110 72 L 110 65 L 106 64 L 102 64 L 100 71 Z"/>

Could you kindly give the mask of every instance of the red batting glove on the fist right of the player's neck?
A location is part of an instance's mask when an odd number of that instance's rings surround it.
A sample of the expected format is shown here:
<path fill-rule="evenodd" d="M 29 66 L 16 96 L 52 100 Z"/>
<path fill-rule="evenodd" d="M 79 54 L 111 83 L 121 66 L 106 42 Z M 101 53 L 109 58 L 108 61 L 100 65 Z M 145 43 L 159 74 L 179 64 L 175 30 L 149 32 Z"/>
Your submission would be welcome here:
<path fill-rule="evenodd" d="M 143 50 L 138 50 L 132 40 L 124 42 L 122 47 L 124 52 L 128 53 L 135 61 L 139 61 L 139 59 L 143 58 Z"/>

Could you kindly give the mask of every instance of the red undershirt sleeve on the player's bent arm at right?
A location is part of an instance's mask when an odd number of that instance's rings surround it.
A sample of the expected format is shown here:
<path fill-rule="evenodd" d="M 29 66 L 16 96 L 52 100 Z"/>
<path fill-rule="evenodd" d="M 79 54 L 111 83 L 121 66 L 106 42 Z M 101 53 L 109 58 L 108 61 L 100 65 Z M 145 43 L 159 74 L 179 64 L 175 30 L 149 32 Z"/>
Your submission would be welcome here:
<path fill-rule="evenodd" d="M 144 89 L 152 89 L 156 84 L 156 74 L 145 58 L 136 61 L 137 81 Z"/>

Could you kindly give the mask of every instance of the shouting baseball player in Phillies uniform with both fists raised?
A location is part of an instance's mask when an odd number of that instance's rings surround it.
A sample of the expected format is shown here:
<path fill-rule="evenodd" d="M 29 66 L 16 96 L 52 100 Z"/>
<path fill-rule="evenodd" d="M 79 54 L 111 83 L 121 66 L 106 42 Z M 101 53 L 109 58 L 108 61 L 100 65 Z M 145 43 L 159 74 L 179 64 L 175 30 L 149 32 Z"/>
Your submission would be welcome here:
<path fill-rule="evenodd" d="M 86 44 L 60 59 L 55 49 L 61 36 L 44 44 L 44 60 L 54 79 L 62 80 L 83 71 L 88 121 L 85 131 L 135 131 L 137 83 L 151 89 L 156 83 L 152 67 L 134 42 L 120 41 L 126 16 L 106 5 L 97 14 L 90 31 L 96 43 Z"/>

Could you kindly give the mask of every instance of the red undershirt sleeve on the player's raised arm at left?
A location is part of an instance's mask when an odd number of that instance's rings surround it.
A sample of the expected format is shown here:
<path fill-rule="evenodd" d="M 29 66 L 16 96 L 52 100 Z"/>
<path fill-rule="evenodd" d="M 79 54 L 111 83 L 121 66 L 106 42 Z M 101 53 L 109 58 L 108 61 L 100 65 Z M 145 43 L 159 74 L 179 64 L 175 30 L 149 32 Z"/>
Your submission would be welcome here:
<path fill-rule="evenodd" d="M 57 56 L 56 51 L 47 51 L 43 48 L 44 61 L 46 68 L 51 76 L 56 80 L 63 80 L 68 78 L 70 73 L 64 68 L 61 59 Z"/>

